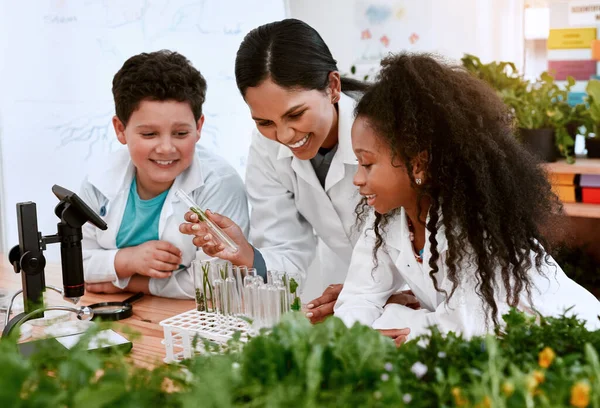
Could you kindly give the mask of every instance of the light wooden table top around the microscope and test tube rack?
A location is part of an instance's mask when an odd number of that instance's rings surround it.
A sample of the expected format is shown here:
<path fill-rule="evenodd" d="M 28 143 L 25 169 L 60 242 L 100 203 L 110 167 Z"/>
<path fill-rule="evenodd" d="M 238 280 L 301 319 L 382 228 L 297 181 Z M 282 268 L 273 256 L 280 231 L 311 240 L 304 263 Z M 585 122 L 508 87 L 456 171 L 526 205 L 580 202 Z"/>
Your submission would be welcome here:
<path fill-rule="evenodd" d="M 60 265 L 46 266 L 46 284 L 62 288 L 62 272 Z M 0 288 L 21 289 L 21 275 L 16 274 L 8 262 L 6 255 L 0 253 Z M 70 305 L 62 297 L 47 290 L 48 302 L 52 305 Z M 129 293 L 115 295 L 86 293 L 79 301 L 79 306 L 90 305 L 97 302 L 122 301 L 129 297 Z M 167 299 L 146 295 L 133 305 L 133 316 L 116 323 L 115 330 L 120 331 L 120 326 L 127 326 L 141 337 L 133 340 L 131 358 L 136 365 L 152 367 L 162 363 L 165 357 L 163 328 L 158 323 L 164 319 L 194 308 L 193 300 Z M 73 314 L 73 317 L 75 315 Z M 125 335 L 127 337 L 127 335 Z"/>

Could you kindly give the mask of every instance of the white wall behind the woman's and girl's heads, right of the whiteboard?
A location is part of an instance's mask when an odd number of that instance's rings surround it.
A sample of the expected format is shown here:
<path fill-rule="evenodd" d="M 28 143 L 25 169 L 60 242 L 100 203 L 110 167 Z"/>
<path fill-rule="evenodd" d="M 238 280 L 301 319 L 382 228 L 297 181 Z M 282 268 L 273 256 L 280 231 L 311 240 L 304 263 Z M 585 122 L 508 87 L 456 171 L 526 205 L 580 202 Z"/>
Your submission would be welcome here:
<path fill-rule="evenodd" d="M 312 25 L 329 45 L 341 72 L 357 62 L 361 42 L 361 11 L 368 5 L 401 10 L 402 18 L 391 27 L 389 51 L 429 51 L 458 60 L 464 53 L 484 61 L 523 60 L 523 0 L 290 0 L 291 17 Z M 394 36 L 409 26 L 420 35 Z"/>

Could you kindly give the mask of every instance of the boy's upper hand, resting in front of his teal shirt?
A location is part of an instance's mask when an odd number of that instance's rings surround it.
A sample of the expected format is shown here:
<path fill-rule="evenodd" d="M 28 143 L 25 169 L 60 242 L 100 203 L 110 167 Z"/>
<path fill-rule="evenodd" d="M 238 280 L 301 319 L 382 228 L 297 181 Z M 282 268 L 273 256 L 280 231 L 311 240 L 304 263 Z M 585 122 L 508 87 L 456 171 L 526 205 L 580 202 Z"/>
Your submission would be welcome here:
<path fill-rule="evenodd" d="M 115 269 L 120 278 L 134 274 L 150 278 L 168 278 L 181 264 L 181 250 L 167 241 L 148 241 L 123 248 L 115 257 Z"/>

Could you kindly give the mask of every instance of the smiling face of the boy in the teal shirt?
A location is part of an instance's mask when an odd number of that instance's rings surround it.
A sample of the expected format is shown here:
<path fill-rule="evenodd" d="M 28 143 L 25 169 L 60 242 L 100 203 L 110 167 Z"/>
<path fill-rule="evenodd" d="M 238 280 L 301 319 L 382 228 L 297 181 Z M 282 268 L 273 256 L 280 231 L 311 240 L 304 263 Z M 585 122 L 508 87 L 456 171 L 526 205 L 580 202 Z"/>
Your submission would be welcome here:
<path fill-rule="evenodd" d="M 138 194 L 149 199 L 171 187 L 194 158 L 204 116 L 197 122 L 187 102 L 140 102 L 127 126 L 116 116 L 113 125 L 119 141 L 127 145 L 137 170 Z"/>

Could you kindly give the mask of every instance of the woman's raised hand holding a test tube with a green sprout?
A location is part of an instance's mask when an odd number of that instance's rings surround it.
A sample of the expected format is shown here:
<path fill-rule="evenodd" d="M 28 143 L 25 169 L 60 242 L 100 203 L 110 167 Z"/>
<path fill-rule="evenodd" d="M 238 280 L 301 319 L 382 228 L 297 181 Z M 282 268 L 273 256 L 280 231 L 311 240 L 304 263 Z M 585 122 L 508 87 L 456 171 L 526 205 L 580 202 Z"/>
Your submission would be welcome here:
<path fill-rule="evenodd" d="M 242 229 L 224 215 L 213 213 L 210 210 L 206 210 L 205 213 L 237 244 L 238 250 L 236 252 L 216 241 L 208 226 L 201 222 L 198 215 L 192 211 L 185 214 L 185 220 L 188 222 L 181 224 L 179 231 L 183 234 L 194 235 L 192 242 L 197 247 L 202 248 L 206 255 L 230 261 L 237 266 L 251 268 L 254 264 L 254 248 L 246 240 Z"/>

